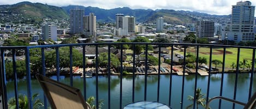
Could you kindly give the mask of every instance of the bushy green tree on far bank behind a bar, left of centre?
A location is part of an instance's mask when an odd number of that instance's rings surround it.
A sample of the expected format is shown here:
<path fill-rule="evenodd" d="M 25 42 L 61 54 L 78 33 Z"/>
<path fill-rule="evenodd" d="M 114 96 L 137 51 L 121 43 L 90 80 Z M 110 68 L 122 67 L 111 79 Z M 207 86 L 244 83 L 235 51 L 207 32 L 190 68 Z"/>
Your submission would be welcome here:
<path fill-rule="evenodd" d="M 101 67 L 108 66 L 108 53 L 106 52 L 100 53 L 98 61 L 99 61 L 99 66 Z M 112 53 L 110 53 L 110 62 L 111 62 L 111 65 L 115 68 L 117 68 L 120 65 L 120 61 L 118 57 Z"/>

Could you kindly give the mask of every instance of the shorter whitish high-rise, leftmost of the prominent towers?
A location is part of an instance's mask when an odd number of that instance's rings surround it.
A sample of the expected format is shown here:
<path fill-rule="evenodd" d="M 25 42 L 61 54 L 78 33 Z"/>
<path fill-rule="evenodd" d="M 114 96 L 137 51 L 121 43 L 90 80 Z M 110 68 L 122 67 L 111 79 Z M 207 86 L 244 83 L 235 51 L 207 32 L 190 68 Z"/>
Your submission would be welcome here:
<path fill-rule="evenodd" d="M 42 39 L 57 41 L 57 26 L 45 24 L 42 27 Z"/>

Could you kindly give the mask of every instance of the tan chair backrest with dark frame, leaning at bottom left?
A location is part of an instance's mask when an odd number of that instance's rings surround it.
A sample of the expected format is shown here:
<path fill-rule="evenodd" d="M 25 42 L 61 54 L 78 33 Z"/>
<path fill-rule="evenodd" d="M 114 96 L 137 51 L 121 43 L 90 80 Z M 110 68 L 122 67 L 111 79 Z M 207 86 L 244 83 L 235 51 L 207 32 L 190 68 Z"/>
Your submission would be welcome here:
<path fill-rule="evenodd" d="M 49 100 L 52 109 L 91 109 L 80 90 L 57 82 L 44 75 L 35 75 Z"/>

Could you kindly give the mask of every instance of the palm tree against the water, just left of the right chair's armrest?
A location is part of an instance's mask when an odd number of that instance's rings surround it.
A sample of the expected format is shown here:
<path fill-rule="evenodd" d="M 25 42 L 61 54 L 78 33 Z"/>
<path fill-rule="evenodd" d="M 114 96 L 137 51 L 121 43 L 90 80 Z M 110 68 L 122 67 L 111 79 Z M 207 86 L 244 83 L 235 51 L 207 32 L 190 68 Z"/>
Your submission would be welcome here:
<path fill-rule="evenodd" d="M 199 105 L 205 107 L 204 103 L 205 103 L 206 99 L 204 98 L 204 95 L 205 94 L 201 93 L 201 88 L 197 88 L 197 91 L 195 92 L 195 101 L 197 102 L 197 109 L 198 109 Z M 188 100 L 194 101 L 194 97 L 189 95 Z M 190 104 L 186 107 L 186 109 L 192 108 L 192 106 L 193 106 L 193 104 Z"/>

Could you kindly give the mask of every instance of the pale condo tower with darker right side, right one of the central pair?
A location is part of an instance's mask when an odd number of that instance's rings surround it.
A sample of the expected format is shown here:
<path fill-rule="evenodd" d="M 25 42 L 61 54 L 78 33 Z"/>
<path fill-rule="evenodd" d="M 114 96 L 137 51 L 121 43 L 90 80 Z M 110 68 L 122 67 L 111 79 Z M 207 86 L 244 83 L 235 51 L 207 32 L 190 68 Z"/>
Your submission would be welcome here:
<path fill-rule="evenodd" d="M 124 30 L 124 35 L 135 33 L 135 17 L 133 16 L 123 17 L 123 30 Z"/>

